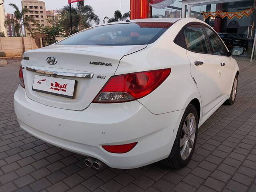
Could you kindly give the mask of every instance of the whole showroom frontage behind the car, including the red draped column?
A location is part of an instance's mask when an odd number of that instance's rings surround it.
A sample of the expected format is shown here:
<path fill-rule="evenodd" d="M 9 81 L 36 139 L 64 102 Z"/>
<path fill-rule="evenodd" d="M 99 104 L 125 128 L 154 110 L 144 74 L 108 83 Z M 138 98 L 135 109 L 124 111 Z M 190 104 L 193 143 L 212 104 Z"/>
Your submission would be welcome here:
<path fill-rule="evenodd" d="M 146 12 L 146 18 L 198 18 L 222 34 L 221 37 L 225 40 L 225 44 L 226 42 L 230 44 L 228 48 L 242 46 L 246 48 L 246 53 L 243 56 L 251 57 L 254 37 L 256 37 L 256 0 L 171 0 L 172 4 L 162 9 L 150 7 L 149 2 L 151 1 L 131 0 L 131 15 L 134 15 L 133 13 L 137 10 L 141 15 Z M 244 15 L 242 18 L 220 18 L 219 16 L 205 18 L 202 14 L 216 11 L 234 13 L 250 8 L 253 8 L 252 13 L 249 16 Z M 132 19 L 135 18 L 138 17 Z"/>

